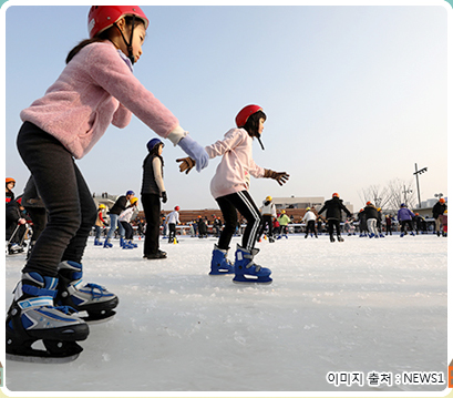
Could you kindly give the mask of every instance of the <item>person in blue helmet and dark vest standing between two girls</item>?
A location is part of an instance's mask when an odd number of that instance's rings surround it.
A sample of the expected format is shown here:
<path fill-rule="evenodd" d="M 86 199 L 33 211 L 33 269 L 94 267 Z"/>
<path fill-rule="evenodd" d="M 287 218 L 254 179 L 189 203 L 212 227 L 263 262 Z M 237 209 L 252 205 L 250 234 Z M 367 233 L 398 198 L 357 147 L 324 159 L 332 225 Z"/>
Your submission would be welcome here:
<path fill-rule="evenodd" d="M 148 154 L 143 161 L 142 204 L 145 212 L 146 229 L 143 258 L 166 258 L 167 254 L 158 247 L 161 198 L 167 202 L 164 186 L 164 159 L 162 151 L 164 143 L 158 139 L 151 140 L 147 144 Z"/>

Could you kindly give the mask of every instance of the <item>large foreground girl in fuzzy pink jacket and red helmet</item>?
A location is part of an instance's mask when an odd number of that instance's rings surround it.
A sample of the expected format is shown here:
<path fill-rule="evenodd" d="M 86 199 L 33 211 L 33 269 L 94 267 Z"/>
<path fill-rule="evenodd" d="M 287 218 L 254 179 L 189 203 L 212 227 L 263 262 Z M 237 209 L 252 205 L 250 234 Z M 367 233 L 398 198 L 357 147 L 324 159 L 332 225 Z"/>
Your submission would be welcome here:
<path fill-rule="evenodd" d="M 206 167 L 208 155 L 133 75 L 142 55 L 148 20 L 137 6 L 93 6 L 90 39 L 68 55 L 66 67 L 44 96 L 21 112 L 17 144 L 49 214 L 45 229 L 22 269 L 7 315 L 10 358 L 75 359 L 75 343 L 89 335 L 87 319 L 114 314 L 119 298 L 104 287 L 81 287 L 81 259 L 96 218 L 90 190 L 74 163 L 101 139 L 107 126 L 123 129 L 134 113 L 159 136 L 179 145 Z M 45 350 L 31 345 L 42 339 Z M 33 359 L 34 358 L 34 359 Z"/>

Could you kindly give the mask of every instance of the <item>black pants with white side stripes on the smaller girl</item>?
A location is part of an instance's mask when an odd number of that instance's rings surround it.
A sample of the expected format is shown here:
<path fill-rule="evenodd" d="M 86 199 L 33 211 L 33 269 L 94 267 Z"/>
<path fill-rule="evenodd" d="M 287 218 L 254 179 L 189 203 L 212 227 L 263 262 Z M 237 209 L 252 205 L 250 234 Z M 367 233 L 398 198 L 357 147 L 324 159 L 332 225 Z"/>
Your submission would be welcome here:
<path fill-rule="evenodd" d="M 247 251 L 254 248 L 261 224 L 261 215 L 248 191 L 220 196 L 217 197 L 216 201 L 225 220 L 225 227 L 222 231 L 217 246 L 223 249 L 229 248 L 229 243 L 236 232 L 237 211 L 239 211 L 247 220 L 247 227 L 243 235 L 241 246 Z"/>

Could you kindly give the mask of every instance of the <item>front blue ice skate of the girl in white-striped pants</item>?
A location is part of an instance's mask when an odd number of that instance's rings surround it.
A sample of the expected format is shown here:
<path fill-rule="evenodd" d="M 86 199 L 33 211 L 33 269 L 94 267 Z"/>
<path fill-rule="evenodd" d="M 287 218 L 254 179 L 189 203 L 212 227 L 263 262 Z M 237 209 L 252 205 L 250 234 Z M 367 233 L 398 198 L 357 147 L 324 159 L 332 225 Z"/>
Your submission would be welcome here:
<path fill-rule="evenodd" d="M 237 245 L 235 253 L 235 277 L 234 283 L 270 284 L 271 271 L 254 263 L 254 257 L 258 254 L 258 248 L 250 251 Z"/>

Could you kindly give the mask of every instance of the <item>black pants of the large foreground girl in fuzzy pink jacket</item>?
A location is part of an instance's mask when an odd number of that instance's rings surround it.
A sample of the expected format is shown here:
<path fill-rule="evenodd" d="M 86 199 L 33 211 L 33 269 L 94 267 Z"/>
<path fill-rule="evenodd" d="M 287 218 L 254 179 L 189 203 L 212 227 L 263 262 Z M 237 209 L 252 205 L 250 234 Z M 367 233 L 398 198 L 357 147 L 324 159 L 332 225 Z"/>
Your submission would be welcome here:
<path fill-rule="evenodd" d="M 49 214 L 22 272 L 55 277 L 61 261 L 81 263 L 96 221 L 96 206 L 71 153 L 60 141 L 25 122 L 17 145 Z"/>

